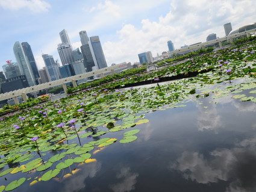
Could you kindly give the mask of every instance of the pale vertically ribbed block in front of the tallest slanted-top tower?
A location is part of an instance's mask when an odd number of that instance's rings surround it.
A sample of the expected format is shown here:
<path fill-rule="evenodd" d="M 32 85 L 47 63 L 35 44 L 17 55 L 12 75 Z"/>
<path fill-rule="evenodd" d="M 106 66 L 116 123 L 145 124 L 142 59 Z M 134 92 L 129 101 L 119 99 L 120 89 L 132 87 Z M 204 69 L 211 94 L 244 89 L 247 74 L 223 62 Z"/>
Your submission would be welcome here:
<path fill-rule="evenodd" d="M 60 55 L 60 60 L 62 65 L 71 64 L 74 59 L 72 55 L 72 48 L 68 43 L 58 44 L 58 54 Z"/>

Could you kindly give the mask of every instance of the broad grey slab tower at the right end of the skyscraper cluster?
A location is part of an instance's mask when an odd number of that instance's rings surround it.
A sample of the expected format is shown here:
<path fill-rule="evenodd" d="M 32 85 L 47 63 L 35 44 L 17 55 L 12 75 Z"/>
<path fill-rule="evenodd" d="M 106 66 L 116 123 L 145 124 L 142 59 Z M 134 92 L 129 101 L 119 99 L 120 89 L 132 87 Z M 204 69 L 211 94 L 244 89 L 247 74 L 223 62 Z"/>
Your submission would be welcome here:
<path fill-rule="evenodd" d="M 102 69 L 104 67 L 107 67 L 107 62 L 105 60 L 105 55 L 101 46 L 101 42 L 99 41 L 99 36 L 90 37 L 90 43 L 92 43 L 92 48 L 95 54 L 98 68 Z"/>

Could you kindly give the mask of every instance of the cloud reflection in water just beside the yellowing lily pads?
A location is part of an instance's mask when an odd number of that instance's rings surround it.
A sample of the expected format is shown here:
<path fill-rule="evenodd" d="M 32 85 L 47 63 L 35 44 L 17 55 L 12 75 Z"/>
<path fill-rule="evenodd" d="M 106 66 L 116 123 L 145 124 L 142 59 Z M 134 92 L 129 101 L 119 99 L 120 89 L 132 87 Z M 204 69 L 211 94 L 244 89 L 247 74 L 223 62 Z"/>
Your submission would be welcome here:
<path fill-rule="evenodd" d="M 79 191 L 83 188 L 86 188 L 85 179 L 86 178 L 94 178 L 96 173 L 101 170 L 101 162 L 93 162 L 89 164 L 84 164 L 81 167 L 81 171 L 77 173 L 77 175 L 68 178 L 64 181 L 63 192 L 70 191 Z"/>

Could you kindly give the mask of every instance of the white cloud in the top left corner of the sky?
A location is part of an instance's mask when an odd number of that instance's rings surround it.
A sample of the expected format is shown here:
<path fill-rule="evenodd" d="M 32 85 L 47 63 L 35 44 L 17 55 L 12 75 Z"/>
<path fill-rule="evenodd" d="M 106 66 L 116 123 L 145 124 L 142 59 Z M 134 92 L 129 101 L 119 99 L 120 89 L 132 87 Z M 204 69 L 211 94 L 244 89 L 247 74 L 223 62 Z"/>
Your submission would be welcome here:
<path fill-rule="evenodd" d="M 0 0 L 0 7 L 12 11 L 27 8 L 32 13 L 40 13 L 48 11 L 51 5 L 41 0 Z"/>

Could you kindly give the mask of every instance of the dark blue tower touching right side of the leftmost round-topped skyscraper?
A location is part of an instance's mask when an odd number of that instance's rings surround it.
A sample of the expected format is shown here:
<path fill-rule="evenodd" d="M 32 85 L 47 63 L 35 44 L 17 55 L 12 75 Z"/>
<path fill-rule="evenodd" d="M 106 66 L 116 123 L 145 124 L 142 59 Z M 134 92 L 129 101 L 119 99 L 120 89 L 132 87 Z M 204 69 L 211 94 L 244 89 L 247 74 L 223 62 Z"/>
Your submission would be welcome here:
<path fill-rule="evenodd" d="M 36 60 L 34 58 L 34 55 L 33 55 L 33 52 L 31 50 L 30 44 L 28 44 L 28 42 L 22 42 L 21 45 L 22 45 L 22 48 L 23 48 L 23 51 L 24 51 L 25 55 L 28 58 L 28 61 L 30 62 L 30 66 L 32 68 L 33 75 L 34 75 L 34 79 L 36 80 L 36 84 L 39 84 L 38 80 L 37 80 L 39 78 L 39 72 L 38 72 L 38 69 L 37 69 Z"/>

